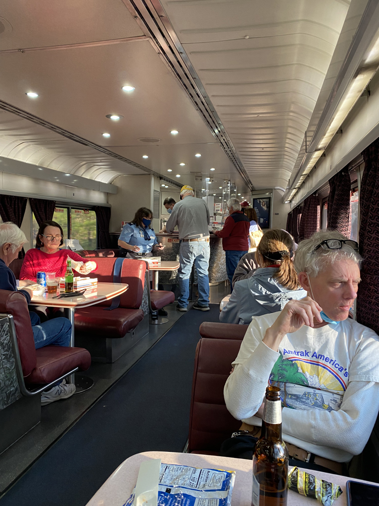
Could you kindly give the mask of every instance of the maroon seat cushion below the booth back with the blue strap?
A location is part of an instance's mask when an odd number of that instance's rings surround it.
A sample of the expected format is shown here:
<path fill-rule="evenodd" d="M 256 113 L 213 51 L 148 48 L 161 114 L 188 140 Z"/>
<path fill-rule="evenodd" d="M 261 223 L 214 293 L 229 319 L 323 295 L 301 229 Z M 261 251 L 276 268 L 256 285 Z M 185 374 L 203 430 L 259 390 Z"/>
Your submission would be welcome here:
<path fill-rule="evenodd" d="M 88 337 L 123 338 L 144 319 L 141 309 L 116 308 L 105 311 L 102 306 L 75 311 L 75 332 Z"/>

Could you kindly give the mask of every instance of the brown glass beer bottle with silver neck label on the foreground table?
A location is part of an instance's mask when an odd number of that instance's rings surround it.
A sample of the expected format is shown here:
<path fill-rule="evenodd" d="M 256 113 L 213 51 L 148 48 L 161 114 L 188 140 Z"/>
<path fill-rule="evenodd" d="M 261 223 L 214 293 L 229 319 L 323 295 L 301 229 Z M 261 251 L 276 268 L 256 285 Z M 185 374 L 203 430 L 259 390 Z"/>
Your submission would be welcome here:
<path fill-rule="evenodd" d="M 280 388 L 267 387 L 262 433 L 253 455 L 253 506 L 286 506 L 288 450 L 281 439 Z"/>

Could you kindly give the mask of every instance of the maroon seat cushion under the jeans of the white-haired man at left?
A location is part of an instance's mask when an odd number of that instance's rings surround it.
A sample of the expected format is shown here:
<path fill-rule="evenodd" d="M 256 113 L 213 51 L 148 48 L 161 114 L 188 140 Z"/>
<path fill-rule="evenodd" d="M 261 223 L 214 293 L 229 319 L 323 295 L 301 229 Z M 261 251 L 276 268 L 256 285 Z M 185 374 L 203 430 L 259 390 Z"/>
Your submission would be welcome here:
<path fill-rule="evenodd" d="M 37 364 L 25 378 L 26 384 L 51 383 L 75 367 L 85 371 L 91 365 L 91 356 L 84 348 L 44 346 L 36 350 L 36 354 Z"/>

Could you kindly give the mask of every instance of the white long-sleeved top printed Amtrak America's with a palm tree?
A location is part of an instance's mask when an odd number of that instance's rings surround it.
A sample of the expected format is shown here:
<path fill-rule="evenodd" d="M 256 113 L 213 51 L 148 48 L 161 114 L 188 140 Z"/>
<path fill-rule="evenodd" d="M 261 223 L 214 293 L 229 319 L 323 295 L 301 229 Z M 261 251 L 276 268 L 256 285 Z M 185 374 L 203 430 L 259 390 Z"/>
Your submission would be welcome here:
<path fill-rule="evenodd" d="M 279 313 L 253 317 L 225 403 L 237 419 L 254 416 L 267 383 L 281 388 L 283 439 L 338 462 L 361 453 L 379 409 L 379 336 L 352 319 L 286 334 L 279 352 L 262 339 Z"/>

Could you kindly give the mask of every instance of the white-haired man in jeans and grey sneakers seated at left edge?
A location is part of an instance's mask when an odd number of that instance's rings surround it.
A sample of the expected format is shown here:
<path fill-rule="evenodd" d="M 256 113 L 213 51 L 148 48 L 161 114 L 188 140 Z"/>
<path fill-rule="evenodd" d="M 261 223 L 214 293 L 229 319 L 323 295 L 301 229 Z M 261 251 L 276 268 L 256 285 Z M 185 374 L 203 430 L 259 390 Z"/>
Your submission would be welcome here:
<path fill-rule="evenodd" d="M 22 246 L 28 242 L 25 234 L 17 225 L 6 222 L 0 225 L 0 289 L 17 291 L 16 277 L 9 268 L 10 263 L 18 258 Z M 44 288 L 40 285 L 25 284 L 19 290 L 26 299 L 27 304 L 33 295 L 33 291 Z M 67 318 L 54 318 L 40 323 L 39 316 L 30 312 L 35 348 L 47 345 L 69 346 L 71 339 L 71 323 Z M 65 380 L 55 385 L 48 391 L 42 392 L 41 404 L 50 404 L 60 399 L 67 399 L 75 393 L 75 385 L 66 383 Z"/>

